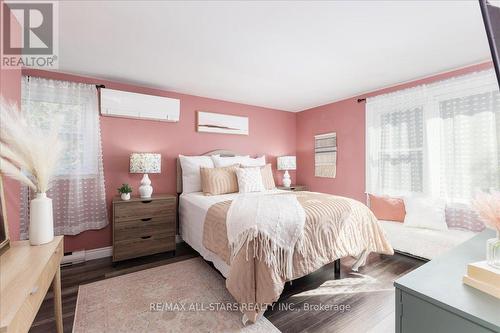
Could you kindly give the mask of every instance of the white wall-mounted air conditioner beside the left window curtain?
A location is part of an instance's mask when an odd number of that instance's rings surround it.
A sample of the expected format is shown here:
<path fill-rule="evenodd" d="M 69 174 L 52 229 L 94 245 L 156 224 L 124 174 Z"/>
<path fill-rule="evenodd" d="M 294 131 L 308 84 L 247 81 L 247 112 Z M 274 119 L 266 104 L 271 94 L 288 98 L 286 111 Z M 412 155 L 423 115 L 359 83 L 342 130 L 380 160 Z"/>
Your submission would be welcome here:
<path fill-rule="evenodd" d="M 179 121 L 180 100 L 101 88 L 103 116 Z"/>

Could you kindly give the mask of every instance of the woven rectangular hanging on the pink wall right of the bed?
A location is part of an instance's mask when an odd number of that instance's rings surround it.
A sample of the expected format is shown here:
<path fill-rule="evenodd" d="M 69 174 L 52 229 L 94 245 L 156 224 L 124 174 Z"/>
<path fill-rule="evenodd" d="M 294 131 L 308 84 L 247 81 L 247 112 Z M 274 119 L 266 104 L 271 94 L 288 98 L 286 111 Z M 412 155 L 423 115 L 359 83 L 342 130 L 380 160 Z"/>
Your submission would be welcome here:
<path fill-rule="evenodd" d="M 314 136 L 314 175 L 335 178 L 337 174 L 337 133 Z"/>

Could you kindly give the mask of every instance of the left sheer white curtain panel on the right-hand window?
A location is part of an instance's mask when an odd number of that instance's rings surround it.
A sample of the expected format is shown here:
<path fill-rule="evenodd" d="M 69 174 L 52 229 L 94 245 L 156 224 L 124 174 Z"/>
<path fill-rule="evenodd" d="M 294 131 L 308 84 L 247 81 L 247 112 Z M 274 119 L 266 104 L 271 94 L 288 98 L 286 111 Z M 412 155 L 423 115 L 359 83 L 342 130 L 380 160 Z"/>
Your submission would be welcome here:
<path fill-rule="evenodd" d="M 366 102 L 367 191 L 423 192 L 425 87 Z"/>

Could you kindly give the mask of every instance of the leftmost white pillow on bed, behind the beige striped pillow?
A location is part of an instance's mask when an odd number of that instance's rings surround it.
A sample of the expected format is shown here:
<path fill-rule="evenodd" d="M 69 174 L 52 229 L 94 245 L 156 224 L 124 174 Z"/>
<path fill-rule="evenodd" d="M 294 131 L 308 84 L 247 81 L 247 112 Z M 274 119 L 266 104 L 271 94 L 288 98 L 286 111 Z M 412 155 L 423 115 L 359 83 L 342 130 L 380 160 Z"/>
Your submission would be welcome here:
<path fill-rule="evenodd" d="M 200 168 L 213 168 L 210 156 L 179 155 L 182 169 L 182 193 L 201 192 Z"/>

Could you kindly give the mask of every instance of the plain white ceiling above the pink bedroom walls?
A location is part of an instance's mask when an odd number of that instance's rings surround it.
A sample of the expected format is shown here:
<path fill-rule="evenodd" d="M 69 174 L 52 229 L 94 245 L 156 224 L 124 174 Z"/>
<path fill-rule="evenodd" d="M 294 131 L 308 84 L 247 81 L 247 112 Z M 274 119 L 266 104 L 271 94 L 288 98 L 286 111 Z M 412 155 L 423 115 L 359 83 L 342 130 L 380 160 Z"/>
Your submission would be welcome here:
<path fill-rule="evenodd" d="M 59 70 L 301 111 L 488 60 L 473 1 L 65 1 Z"/>

